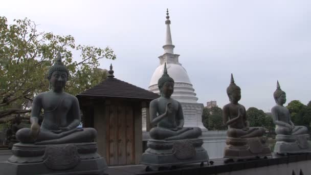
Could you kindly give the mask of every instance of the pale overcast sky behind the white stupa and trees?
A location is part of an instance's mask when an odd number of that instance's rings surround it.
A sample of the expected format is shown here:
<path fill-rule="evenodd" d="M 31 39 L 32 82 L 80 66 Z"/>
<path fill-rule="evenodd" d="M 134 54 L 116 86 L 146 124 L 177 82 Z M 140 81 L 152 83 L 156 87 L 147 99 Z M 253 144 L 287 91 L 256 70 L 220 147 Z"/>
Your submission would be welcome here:
<path fill-rule="evenodd" d="M 311 100 L 311 1 L 3 1 L 0 15 L 35 21 L 39 31 L 112 48 L 115 77 L 148 89 L 165 42 L 169 9 L 174 53 L 198 102 L 229 102 L 233 73 L 240 103 L 269 112 L 276 81 L 287 102 Z M 79 55 L 75 56 L 79 59 Z"/>

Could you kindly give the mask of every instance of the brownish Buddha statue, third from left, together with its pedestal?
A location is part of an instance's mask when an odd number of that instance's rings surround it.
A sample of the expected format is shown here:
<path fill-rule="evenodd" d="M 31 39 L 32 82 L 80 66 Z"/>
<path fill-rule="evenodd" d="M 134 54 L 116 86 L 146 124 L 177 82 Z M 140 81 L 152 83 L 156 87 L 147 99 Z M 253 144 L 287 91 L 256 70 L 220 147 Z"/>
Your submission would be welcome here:
<path fill-rule="evenodd" d="M 245 107 L 238 103 L 241 99 L 241 89 L 231 82 L 227 88 L 230 103 L 223 107 L 223 122 L 228 126 L 224 158 L 250 159 L 271 155 L 271 150 L 262 138 L 265 130 L 262 127 L 250 127 Z"/>

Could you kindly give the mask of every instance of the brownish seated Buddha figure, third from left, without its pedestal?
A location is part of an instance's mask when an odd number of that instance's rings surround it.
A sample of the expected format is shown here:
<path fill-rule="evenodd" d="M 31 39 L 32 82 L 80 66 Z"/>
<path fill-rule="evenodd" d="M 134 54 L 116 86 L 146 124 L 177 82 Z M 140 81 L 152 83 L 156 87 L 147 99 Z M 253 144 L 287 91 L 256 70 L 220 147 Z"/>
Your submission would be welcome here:
<path fill-rule="evenodd" d="M 262 127 L 250 127 L 246 116 L 245 107 L 238 103 L 241 99 L 241 89 L 234 83 L 231 74 L 231 82 L 227 88 L 230 103 L 223 107 L 224 125 L 228 126 L 227 136 L 233 138 L 260 137 L 265 130 Z"/>

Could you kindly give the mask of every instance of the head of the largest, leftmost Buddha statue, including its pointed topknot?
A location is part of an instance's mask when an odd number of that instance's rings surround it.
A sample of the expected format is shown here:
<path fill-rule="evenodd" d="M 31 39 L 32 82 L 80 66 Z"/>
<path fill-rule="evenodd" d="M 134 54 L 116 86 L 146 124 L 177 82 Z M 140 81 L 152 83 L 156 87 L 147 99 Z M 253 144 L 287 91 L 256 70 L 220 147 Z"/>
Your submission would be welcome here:
<path fill-rule="evenodd" d="M 48 73 L 48 80 L 50 81 L 50 89 L 61 91 L 68 80 L 69 72 L 65 65 L 61 62 L 60 52 L 57 54 L 54 65 L 51 66 Z"/>

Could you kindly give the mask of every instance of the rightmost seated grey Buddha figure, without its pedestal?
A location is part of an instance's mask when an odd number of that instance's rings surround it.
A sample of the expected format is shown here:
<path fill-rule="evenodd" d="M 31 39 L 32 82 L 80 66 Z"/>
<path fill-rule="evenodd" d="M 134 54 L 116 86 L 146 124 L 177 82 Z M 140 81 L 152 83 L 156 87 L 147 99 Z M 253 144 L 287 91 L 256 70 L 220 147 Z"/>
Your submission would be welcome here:
<path fill-rule="evenodd" d="M 277 88 L 273 93 L 276 105 L 272 107 L 271 113 L 273 122 L 276 125 L 275 133 L 277 135 L 302 135 L 307 134 L 308 129 L 305 126 L 295 126 L 291 120 L 290 111 L 283 104 L 286 102 L 286 94 L 281 90 L 279 81 Z"/>

